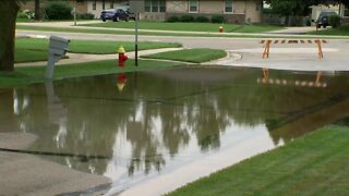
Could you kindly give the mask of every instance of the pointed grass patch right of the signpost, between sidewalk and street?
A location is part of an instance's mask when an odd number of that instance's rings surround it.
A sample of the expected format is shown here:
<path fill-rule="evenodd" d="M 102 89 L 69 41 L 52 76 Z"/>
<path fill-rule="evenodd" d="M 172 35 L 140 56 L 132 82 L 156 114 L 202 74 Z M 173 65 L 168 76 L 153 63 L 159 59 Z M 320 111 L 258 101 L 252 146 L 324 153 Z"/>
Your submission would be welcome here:
<path fill-rule="evenodd" d="M 220 59 L 226 56 L 227 56 L 227 52 L 224 50 L 200 48 L 200 49 L 184 49 L 184 50 L 160 52 L 160 53 L 155 53 L 151 56 L 142 56 L 142 58 L 202 63 L 202 62 Z"/>

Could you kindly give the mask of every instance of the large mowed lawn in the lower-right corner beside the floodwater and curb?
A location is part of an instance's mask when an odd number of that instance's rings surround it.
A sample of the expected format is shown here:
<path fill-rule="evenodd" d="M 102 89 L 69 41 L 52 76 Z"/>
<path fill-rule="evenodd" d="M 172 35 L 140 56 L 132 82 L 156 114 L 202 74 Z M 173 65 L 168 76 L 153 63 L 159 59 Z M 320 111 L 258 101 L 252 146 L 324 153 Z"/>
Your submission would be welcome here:
<path fill-rule="evenodd" d="M 322 128 L 169 195 L 349 195 L 349 128 Z"/>

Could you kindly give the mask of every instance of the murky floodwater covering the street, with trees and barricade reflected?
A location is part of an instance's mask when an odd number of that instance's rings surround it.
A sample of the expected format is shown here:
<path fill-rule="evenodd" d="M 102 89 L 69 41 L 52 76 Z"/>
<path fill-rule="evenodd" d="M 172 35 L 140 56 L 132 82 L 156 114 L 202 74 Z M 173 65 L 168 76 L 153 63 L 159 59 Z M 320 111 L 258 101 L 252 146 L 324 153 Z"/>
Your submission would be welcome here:
<path fill-rule="evenodd" d="M 0 133 L 37 135 L 22 152 L 108 176 L 110 194 L 158 194 L 345 118 L 348 91 L 339 72 L 207 66 L 81 77 L 0 89 Z"/>

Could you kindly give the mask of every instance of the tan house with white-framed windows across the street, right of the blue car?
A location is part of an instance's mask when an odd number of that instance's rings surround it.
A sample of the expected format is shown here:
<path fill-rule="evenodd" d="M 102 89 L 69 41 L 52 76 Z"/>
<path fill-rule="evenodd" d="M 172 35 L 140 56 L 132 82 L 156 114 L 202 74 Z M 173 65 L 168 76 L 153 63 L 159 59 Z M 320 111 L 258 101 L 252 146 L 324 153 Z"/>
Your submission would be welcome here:
<path fill-rule="evenodd" d="M 262 0 L 145 0 L 141 17 L 165 21 L 181 15 L 225 15 L 227 23 L 261 23 Z"/>

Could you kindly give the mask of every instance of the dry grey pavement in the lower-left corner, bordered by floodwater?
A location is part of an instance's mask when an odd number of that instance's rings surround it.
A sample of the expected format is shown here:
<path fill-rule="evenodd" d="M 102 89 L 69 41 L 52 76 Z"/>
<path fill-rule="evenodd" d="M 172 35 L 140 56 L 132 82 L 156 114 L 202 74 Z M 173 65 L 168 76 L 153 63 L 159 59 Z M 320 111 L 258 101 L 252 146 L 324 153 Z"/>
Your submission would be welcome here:
<path fill-rule="evenodd" d="M 28 133 L 0 133 L 2 149 L 26 149 L 35 140 L 36 136 Z M 103 192 L 110 184 L 105 176 L 72 170 L 37 156 L 3 150 L 0 150 L 0 195 L 86 194 Z"/>

